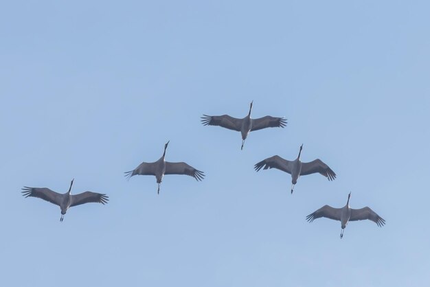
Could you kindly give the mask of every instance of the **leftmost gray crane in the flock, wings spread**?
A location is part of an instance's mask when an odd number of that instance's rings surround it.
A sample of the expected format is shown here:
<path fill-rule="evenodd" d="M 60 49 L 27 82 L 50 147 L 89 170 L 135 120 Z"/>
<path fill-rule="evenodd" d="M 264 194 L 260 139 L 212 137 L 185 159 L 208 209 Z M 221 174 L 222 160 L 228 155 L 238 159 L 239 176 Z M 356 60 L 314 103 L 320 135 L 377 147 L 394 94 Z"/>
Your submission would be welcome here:
<path fill-rule="evenodd" d="M 64 215 L 69 207 L 76 205 L 82 205 L 84 203 L 102 203 L 106 204 L 109 200 L 109 196 L 106 194 L 99 194 L 96 192 L 82 192 L 81 194 L 70 194 L 71 186 L 73 185 L 74 179 L 71 180 L 69 191 L 65 194 L 59 194 L 49 190 L 47 187 L 27 187 L 25 186 L 23 190 L 23 196 L 37 197 L 48 201 L 49 203 L 54 203 L 58 205 L 61 209 L 60 221 L 63 221 Z"/>

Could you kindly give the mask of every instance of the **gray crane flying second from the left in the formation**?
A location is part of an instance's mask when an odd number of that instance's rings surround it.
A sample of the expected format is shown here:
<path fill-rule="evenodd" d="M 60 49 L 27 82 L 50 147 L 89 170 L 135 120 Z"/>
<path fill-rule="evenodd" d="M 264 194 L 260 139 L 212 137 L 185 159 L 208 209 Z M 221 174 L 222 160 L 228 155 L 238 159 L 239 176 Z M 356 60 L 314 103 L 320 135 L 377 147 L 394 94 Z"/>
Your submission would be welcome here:
<path fill-rule="evenodd" d="M 188 176 L 194 177 L 196 181 L 201 181 L 205 174 L 204 172 L 201 172 L 200 170 L 196 170 L 191 165 L 188 165 L 184 162 L 179 163 L 171 163 L 169 161 L 165 161 L 164 158 L 166 157 L 166 149 L 168 147 L 170 141 L 168 141 L 164 145 L 164 152 L 161 158 L 158 161 L 155 161 L 153 163 L 146 163 L 143 162 L 137 166 L 134 170 L 131 170 L 129 172 L 125 172 L 125 176 L 130 179 L 131 176 L 135 175 L 153 175 L 157 179 L 158 189 L 157 193 L 160 192 L 160 184 L 161 181 L 163 181 L 163 176 L 166 174 L 184 174 Z"/>

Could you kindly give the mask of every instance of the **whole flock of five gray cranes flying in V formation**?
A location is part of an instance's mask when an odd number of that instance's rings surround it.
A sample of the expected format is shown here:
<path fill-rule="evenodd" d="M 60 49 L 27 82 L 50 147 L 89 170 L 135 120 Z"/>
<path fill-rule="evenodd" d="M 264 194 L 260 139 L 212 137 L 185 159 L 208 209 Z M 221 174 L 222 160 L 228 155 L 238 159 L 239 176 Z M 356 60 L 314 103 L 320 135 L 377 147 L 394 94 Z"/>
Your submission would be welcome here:
<path fill-rule="evenodd" d="M 223 128 L 228 128 L 229 130 L 236 130 L 242 134 L 242 146 L 240 149 L 243 149 L 245 144 L 245 139 L 249 135 L 249 132 L 254 130 L 261 130 L 262 128 L 284 128 L 286 126 L 286 119 L 283 117 L 271 117 L 267 115 L 266 117 L 260 117 L 258 119 L 251 119 L 251 102 L 249 107 L 249 113 L 246 117 L 242 119 L 237 119 L 235 117 L 231 117 L 229 115 L 220 115 L 220 116 L 210 116 L 203 115 L 202 124 L 205 126 L 221 126 Z M 166 150 L 168 148 L 169 141 L 164 145 L 163 155 L 160 157 L 158 161 L 147 163 L 143 162 L 134 170 L 129 172 L 125 172 L 125 176 L 130 179 L 131 176 L 135 175 L 152 175 L 157 179 L 157 193 L 160 191 L 160 184 L 163 180 L 163 176 L 166 174 L 185 174 L 188 176 L 194 177 L 196 181 L 201 181 L 205 174 L 200 170 L 196 170 L 191 165 L 188 165 L 184 162 L 172 163 L 169 161 L 165 161 Z M 302 153 L 303 144 L 300 146 L 299 154 L 297 158 L 293 161 L 288 161 L 286 159 L 282 159 L 278 155 L 273 157 L 268 157 L 256 163 L 254 166 L 255 170 L 258 172 L 259 170 L 267 170 L 270 168 L 276 168 L 278 170 L 282 170 L 288 174 L 291 174 L 291 194 L 293 194 L 294 186 L 297 183 L 297 179 L 299 179 L 302 175 L 307 174 L 315 174 L 319 173 L 329 181 L 336 179 L 336 174 L 333 172 L 331 168 L 326 165 L 320 159 L 315 159 L 314 161 L 310 161 L 308 163 L 303 163 L 300 161 L 300 154 Z M 69 207 L 73 207 L 76 205 L 82 205 L 84 203 L 102 203 L 106 204 L 109 200 L 109 196 L 106 194 L 99 194 L 96 192 L 82 192 L 81 194 L 70 194 L 71 187 L 73 185 L 73 180 L 70 183 L 69 191 L 65 194 L 59 194 L 58 192 L 54 192 L 49 190 L 47 187 L 24 187 L 23 188 L 23 196 L 28 197 L 37 197 L 42 198 L 43 200 L 47 200 L 50 203 L 54 203 L 54 205 L 58 205 L 61 209 L 61 217 L 60 221 L 63 221 L 64 215 L 67 212 Z M 346 225 L 350 221 L 356 220 L 372 220 L 375 222 L 378 227 L 382 227 L 385 225 L 385 220 L 378 216 L 376 212 L 374 212 L 370 207 L 363 207 L 361 209 L 352 209 L 349 205 L 350 203 L 351 193 L 348 194 L 348 201 L 346 205 L 341 208 L 330 207 L 330 205 L 324 205 L 317 211 L 309 214 L 306 217 L 306 220 L 309 222 L 313 222 L 313 220 L 321 217 L 330 218 L 332 220 L 339 220 L 341 222 L 341 235 L 343 237 L 343 229 L 345 229 Z"/>

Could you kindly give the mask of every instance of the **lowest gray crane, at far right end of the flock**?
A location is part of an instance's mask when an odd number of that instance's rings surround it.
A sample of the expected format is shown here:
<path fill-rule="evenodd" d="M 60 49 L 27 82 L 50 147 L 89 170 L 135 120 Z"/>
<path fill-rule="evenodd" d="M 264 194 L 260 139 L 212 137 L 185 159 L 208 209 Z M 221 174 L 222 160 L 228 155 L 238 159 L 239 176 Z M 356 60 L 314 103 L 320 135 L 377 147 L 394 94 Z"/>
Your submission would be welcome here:
<path fill-rule="evenodd" d="M 350 221 L 357 220 L 372 220 L 378 225 L 378 227 L 383 227 L 385 225 L 385 220 L 378 216 L 375 211 L 370 209 L 370 207 L 363 207 L 361 209 L 352 209 L 350 207 L 350 197 L 351 193 L 348 194 L 348 201 L 346 205 L 342 208 L 334 208 L 330 205 L 324 205 L 320 209 L 317 209 L 312 214 L 306 216 L 308 222 L 313 222 L 313 220 L 321 217 L 330 218 L 332 220 L 339 220 L 341 222 L 341 238 L 343 237 L 343 229 Z"/>

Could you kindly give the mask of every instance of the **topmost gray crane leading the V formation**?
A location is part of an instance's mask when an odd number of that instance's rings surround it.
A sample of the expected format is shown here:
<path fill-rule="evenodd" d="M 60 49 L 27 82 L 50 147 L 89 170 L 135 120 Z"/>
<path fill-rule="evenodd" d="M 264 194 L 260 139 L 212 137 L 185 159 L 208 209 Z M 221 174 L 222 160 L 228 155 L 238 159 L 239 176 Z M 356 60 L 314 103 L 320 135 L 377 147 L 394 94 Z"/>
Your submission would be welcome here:
<path fill-rule="evenodd" d="M 242 135 L 241 150 L 249 132 L 261 130 L 262 128 L 284 128 L 286 126 L 286 119 L 283 117 L 271 117 L 267 115 L 258 119 L 251 119 L 252 103 L 249 106 L 248 115 L 242 119 L 236 119 L 236 117 L 230 117 L 229 115 L 203 115 L 201 122 L 205 126 L 221 126 L 240 132 Z"/>

